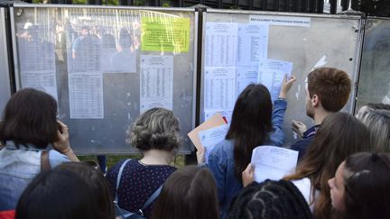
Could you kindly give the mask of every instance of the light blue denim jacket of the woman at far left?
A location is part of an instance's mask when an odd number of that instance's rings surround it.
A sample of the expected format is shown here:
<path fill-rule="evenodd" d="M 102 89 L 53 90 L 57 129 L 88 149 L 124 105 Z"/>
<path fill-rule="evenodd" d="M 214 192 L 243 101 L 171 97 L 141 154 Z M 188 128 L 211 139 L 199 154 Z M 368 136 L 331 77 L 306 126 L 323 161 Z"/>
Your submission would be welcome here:
<path fill-rule="evenodd" d="M 41 172 L 42 149 L 33 145 L 20 146 L 17 149 L 14 141 L 7 141 L 0 151 L 0 211 L 14 210 L 19 197 L 32 178 Z M 51 169 L 61 162 L 70 161 L 58 151 L 49 151 Z"/>

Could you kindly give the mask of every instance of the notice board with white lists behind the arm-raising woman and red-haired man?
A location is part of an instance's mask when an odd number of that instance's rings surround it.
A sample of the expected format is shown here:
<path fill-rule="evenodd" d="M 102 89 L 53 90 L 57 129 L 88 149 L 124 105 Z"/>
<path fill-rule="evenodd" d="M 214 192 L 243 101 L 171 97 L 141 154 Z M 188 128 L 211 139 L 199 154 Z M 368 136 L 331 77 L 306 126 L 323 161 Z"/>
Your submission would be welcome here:
<path fill-rule="evenodd" d="M 353 112 L 364 26 L 360 16 L 215 9 L 202 15 L 200 123 L 216 112 L 231 116 L 240 91 L 249 82 L 257 82 L 259 60 L 264 65 L 292 63 L 297 78 L 287 96 L 285 146 L 298 141 L 291 129 L 292 119 L 308 128 L 313 124 L 305 113 L 304 82 L 312 68 L 334 67 L 349 74 L 354 87 L 343 111 Z"/>

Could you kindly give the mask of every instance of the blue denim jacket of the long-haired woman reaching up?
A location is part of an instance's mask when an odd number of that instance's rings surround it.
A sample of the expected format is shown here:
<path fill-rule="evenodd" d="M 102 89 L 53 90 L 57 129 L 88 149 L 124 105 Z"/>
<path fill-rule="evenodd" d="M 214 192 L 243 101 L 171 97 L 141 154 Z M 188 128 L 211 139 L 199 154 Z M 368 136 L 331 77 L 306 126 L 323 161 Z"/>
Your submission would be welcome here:
<path fill-rule="evenodd" d="M 274 101 L 272 122 L 274 132 L 269 133 L 265 145 L 282 146 L 284 134 L 282 131 L 284 112 L 287 102 L 282 99 Z M 218 201 L 221 210 L 221 218 L 228 214 L 228 205 L 234 196 L 243 187 L 242 182 L 234 174 L 234 140 L 219 142 L 209 154 L 209 169 L 214 175 L 218 188 Z"/>

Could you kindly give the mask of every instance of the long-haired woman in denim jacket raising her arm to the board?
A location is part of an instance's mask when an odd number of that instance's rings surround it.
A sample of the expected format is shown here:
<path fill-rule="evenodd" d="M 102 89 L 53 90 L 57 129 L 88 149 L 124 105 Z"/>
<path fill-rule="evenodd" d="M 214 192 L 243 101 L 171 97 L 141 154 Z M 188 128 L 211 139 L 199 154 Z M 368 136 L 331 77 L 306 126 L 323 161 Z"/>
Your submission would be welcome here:
<path fill-rule="evenodd" d="M 209 154 L 209 169 L 217 181 L 222 218 L 226 216 L 233 196 L 243 187 L 241 173 L 250 163 L 255 147 L 283 145 L 285 98 L 295 79 L 283 79 L 274 109 L 270 93 L 263 85 L 249 85 L 238 96 L 227 136 Z"/>

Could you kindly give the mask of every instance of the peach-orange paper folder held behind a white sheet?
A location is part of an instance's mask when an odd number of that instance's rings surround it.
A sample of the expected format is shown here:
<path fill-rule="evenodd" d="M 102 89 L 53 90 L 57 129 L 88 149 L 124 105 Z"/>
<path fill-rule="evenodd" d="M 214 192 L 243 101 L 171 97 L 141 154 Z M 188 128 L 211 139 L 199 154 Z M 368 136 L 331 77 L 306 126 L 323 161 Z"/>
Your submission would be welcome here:
<path fill-rule="evenodd" d="M 203 130 L 211 129 L 219 125 L 226 124 L 221 114 L 214 114 L 207 121 L 201 123 L 198 127 L 188 133 L 190 141 L 195 145 L 195 148 L 200 150 L 203 146 L 200 143 L 200 137 L 198 133 Z"/>

